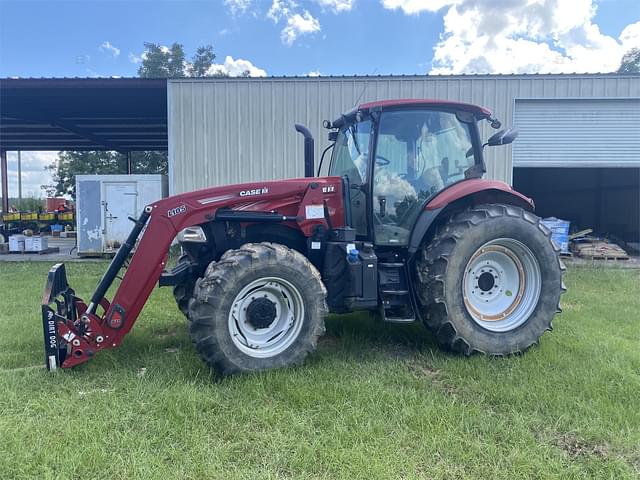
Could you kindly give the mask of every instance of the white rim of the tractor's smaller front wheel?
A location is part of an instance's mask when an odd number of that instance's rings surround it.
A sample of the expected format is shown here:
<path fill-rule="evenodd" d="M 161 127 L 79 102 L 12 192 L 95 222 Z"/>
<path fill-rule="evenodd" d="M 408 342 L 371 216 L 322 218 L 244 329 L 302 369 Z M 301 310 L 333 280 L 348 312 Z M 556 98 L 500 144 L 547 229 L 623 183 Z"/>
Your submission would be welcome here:
<path fill-rule="evenodd" d="M 229 333 L 242 352 L 254 358 L 268 358 L 293 343 L 303 319 L 300 291 L 282 278 L 264 277 L 236 295 L 229 313 Z"/>

